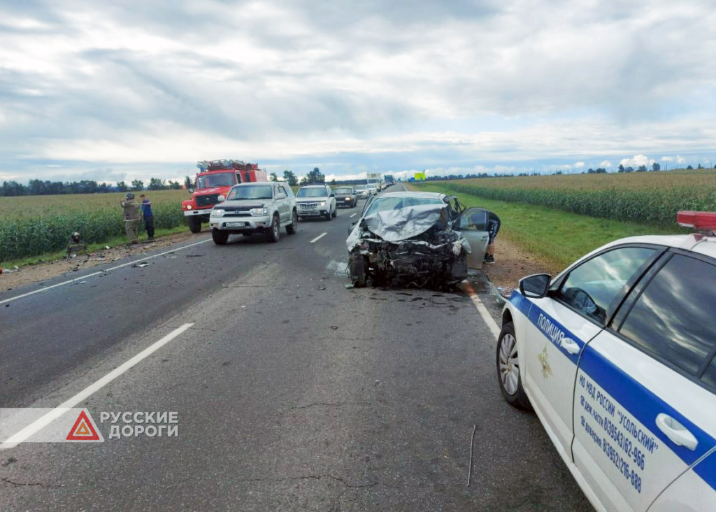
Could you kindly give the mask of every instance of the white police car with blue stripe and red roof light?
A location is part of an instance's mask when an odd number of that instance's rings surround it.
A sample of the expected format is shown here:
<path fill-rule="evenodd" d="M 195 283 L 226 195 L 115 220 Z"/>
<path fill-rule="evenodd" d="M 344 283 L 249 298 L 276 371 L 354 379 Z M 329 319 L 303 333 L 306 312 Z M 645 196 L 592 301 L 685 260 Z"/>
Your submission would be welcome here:
<path fill-rule="evenodd" d="M 505 400 L 532 406 L 598 511 L 716 511 L 716 214 L 624 238 L 503 310 Z"/>

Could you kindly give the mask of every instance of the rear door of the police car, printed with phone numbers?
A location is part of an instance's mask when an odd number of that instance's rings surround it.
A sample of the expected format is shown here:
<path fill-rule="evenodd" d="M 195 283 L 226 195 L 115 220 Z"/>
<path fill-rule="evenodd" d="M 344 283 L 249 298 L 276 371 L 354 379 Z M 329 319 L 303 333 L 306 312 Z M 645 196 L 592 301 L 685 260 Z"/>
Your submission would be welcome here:
<path fill-rule="evenodd" d="M 670 249 L 584 349 L 574 463 L 609 510 L 646 511 L 716 446 L 714 283 L 715 261 Z M 662 512 L 716 511 L 715 464 L 682 478 Z"/>

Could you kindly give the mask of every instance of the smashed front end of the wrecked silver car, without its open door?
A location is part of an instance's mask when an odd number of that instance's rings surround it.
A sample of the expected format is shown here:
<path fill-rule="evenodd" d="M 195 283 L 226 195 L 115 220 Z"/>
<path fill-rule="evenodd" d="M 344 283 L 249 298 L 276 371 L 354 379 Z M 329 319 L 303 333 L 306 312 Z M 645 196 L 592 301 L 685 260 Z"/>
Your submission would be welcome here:
<path fill-rule="evenodd" d="M 368 213 L 347 238 L 354 286 L 454 289 L 468 275 L 470 244 L 453 231 L 448 203 L 402 198 Z"/>

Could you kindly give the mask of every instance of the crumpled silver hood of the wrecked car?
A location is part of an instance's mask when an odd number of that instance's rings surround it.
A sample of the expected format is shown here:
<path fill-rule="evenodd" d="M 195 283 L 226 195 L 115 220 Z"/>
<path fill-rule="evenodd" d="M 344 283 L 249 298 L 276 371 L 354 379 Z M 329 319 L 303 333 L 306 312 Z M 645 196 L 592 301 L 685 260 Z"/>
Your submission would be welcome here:
<path fill-rule="evenodd" d="M 368 231 L 387 242 L 400 242 L 425 233 L 435 225 L 448 225 L 448 205 L 428 204 L 409 206 L 398 210 L 379 211 L 362 218 L 346 240 L 352 251 L 361 241 L 361 224 Z"/>

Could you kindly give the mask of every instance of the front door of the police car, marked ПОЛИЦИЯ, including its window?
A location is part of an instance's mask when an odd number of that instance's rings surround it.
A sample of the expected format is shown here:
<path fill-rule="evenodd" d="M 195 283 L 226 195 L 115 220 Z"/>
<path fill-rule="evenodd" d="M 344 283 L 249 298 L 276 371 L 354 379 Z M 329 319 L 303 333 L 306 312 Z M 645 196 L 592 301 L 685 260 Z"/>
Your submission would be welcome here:
<path fill-rule="evenodd" d="M 609 248 L 564 272 L 543 299 L 530 299 L 526 358 L 521 360 L 526 389 L 567 458 L 581 349 L 603 329 L 612 304 L 623 297 L 624 285 L 655 252 L 654 248 Z"/>

